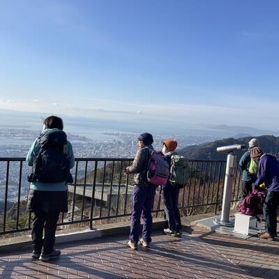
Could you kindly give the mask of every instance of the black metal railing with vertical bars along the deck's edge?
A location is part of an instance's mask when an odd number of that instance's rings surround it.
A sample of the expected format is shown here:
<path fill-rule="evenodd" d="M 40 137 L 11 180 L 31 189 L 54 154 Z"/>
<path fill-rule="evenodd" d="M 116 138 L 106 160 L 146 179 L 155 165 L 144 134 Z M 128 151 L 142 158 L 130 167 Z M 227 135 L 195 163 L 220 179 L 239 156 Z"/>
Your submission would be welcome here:
<path fill-rule="evenodd" d="M 131 213 L 133 176 L 123 174 L 133 158 L 76 158 L 74 182 L 68 186 L 68 213 L 61 213 L 59 225 L 112 222 Z M 225 177 L 225 160 L 189 160 L 188 182 L 179 193 L 179 207 L 185 216 L 220 209 Z M 0 158 L 0 234 L 31 229 L 31 213 L 26 212 L 29 190 L 25 158 Z M 240 174 L 236 170 L 232 202 L 239 196 Z M 160 188 L 156 191 L 153 213 L 163 212 Z M 115 220 L 114 220 L 115 221 Z"/>

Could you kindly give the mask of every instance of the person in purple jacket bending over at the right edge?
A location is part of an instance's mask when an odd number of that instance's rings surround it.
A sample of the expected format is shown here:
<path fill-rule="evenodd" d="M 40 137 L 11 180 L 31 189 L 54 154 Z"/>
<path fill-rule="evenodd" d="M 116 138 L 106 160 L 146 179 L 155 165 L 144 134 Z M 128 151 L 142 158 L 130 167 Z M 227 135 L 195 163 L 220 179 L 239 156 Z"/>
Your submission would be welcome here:
<path fill-rule="evenodd" d="M 279 206 L 279 163 L 275 156 L 263 153 L 262 149 L 255 147 L 251 157 L 259 161 L 255 188 L 265 183 L 267 195 L 264 201 L 264 216 L 266 218 L 265 232 L 259 238 L 275 240 L 277 236 L 277 208 Z"/>

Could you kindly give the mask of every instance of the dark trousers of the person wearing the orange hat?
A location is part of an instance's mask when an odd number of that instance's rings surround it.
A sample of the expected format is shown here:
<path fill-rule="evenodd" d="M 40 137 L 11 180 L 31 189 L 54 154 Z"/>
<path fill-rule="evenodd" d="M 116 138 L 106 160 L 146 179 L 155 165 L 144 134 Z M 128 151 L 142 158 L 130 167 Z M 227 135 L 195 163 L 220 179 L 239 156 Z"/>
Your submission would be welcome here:
<path fill-rule="evenodd" d="M 174 232 L 182 229 L 179 212 L 179 187 L 169 184 L 163 186 L 161 197 L 169 229 Z"/>

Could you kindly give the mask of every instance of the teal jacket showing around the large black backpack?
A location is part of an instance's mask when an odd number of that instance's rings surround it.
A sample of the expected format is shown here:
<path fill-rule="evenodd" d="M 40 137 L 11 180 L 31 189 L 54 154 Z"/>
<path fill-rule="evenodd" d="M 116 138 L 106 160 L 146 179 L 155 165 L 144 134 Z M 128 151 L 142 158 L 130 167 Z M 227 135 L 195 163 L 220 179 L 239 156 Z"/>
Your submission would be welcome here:
<path fill-rule="evenodd" d="M 45 129 L 42 131 L 41 135 L 45 133 Z M 58 129 L 56 129 L 58 130 Z M 38 156 L 38 152 L 40 150 L 40 146 L 38 145 L 38 138 L 33 142 L 31 148 L 29 149 L 27 153 L 27 163 L 30 167 L 33 166 L 33 160 Z M 75 166 L 75 157 L 73 153 L 73 147 L 70 142 L 67 142 L 67 155 L 69 158 L 69 164 L 70 169 L 72 169 Z M 30 183 L 30 189 L 31 190 L 38 190 L 38 191 L 66 191 L 68 190 L 68 184 L 65 182 L 59 182 L 59 183 L 43 183 L 43 182 L 31 182 Z"/>

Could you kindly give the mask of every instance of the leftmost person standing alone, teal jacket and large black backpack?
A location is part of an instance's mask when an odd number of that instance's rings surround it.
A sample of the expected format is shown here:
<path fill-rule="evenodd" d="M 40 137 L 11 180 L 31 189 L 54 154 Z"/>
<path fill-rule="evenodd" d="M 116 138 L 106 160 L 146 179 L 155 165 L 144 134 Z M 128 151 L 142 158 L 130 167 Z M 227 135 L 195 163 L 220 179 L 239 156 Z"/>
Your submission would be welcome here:
<path fill-rule="evenodd" d="M 75 165 L 72 145 L 63 132 L 61 118 L 49 116 L 45 119 L 40 137 L 27 154 L 27 162 L 32 166 L 27 201 L 27 211 L 34 214 L 32 257 L 46 262 L 61 254 L 54 250 L 56 223 L 60 212 L 68 212 L 68 182 L 73 182 L 70 168 Z"/>

